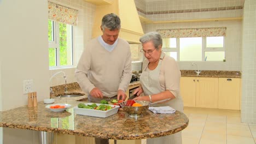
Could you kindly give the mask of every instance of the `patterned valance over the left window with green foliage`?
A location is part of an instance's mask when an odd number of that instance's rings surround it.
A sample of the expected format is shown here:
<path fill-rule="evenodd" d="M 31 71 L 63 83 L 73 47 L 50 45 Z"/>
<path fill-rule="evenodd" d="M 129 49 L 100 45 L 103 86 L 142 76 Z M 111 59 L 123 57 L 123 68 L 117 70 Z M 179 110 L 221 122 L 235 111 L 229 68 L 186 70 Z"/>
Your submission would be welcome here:
<path fill-rule="evenodd" d="M 77 25 L 78 10 L 48 2 L 48 18 L 68 25 Z"/>

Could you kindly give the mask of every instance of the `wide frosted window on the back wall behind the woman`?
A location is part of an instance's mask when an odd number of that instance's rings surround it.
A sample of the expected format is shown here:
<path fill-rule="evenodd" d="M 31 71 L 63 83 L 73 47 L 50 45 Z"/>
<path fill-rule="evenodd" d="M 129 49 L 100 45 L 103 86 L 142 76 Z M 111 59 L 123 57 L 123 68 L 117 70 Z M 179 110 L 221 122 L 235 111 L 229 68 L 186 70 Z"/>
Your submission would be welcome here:
<path fill-rule="evenodd" d="M 166 38 L 162 51 L 176 61 L 223 61 L 224 37 Z"/>

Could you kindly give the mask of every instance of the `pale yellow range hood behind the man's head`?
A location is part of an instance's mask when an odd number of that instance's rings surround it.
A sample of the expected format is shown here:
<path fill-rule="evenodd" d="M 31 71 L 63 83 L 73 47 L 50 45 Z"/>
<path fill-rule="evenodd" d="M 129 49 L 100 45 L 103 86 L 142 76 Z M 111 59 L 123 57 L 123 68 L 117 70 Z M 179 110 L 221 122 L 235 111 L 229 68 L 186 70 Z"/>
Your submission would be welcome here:
<path fill-rule="evenodd" d="M 106 14 L 114 13 L 120 17 L 121 29 L 119 38 L 130 44 L 139 44 L 139 38 L 144 34 L 133 0 L 113 0 L 111 4 L 96 5 L 92 38 L 102 35 L 101 20 Z"/>

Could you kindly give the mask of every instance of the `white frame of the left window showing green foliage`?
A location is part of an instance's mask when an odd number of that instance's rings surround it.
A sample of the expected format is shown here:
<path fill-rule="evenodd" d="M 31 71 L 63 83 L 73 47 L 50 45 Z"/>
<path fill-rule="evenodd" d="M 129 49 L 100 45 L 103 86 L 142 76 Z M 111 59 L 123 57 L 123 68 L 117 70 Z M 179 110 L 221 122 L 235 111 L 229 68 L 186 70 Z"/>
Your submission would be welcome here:
<path fill-rule="evenodd" d="M 49 69 L 56 69 L 56 68 L 69 68 L 74 66 L 74 28 L 71 27 L 71 43 L 72 43 L 72 65 L 60 65 L 60 35 L 59 35 L 59 22 L 53 21 L 53 40 L 49 41 L 48 43 L 48 51 L 50 48 L 56 49 L 56 66 L 49 67 Z"/>

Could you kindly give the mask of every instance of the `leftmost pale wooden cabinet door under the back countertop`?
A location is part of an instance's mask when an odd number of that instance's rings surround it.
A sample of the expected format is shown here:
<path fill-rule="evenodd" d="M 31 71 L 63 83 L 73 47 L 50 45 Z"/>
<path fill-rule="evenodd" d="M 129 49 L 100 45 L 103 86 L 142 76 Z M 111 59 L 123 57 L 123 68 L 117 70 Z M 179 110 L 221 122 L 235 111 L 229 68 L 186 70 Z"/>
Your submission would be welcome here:
<path fill-rule="evenodd" d="M 195 107 L 196 77 L 181 77 L 180 93 L 184 106 Z"/>

